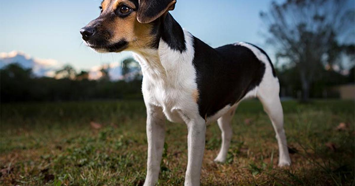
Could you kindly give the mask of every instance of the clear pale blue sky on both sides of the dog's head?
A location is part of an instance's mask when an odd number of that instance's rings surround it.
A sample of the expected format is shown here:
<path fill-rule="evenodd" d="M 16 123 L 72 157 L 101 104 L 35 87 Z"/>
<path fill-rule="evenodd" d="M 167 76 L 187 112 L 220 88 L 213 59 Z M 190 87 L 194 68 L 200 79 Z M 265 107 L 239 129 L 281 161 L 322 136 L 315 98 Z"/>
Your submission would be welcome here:
<path fill-rule="evenodd" d="M 0 52 L 22 51 L 78 69 L 121 61 L 130 53 L 98 54 L 79 30 L 99 15 L 100 0 L 7 0 L 0 5 Z M 282 2 L 282 0 L 277 0 Z M 182 27 L 218 47 L 247 41 L 265 47 L 259 12 L 271 0 L 178 0 L 171 14 Z M 266 48 L 266 51 L 272 51 Z"/>

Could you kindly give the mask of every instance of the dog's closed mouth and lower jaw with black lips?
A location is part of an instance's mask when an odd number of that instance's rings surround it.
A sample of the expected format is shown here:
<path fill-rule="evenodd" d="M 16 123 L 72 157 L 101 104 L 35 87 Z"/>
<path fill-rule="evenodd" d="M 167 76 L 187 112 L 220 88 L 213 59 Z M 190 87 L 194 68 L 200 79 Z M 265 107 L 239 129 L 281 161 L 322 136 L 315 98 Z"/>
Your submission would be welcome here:
<path fill-rule="evenodd" d="M 122 52 L 128 47 L 128 42 L 125 39 L 109 45 L 93 44 L 90 42 L 85 42 L 85 44 L 96 52 Z"/>

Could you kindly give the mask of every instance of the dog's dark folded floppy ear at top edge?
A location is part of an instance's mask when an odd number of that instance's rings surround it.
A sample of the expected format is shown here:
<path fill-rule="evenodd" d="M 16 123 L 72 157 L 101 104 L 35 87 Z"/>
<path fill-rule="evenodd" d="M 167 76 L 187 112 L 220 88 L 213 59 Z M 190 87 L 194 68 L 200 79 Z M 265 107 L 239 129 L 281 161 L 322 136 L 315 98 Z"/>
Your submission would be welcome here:
<path fill-rule="evenodd" d="M 176 0 L 139 0 L 137 20 L 150 23 L 165 12 L 175 9 Z"/>

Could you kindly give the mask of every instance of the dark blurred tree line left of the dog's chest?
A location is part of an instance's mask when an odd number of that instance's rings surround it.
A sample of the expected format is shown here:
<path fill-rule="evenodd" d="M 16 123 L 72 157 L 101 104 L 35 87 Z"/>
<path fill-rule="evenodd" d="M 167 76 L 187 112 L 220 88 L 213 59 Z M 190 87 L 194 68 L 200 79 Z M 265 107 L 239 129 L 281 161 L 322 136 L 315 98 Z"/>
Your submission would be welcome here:
<path fill-rule="evenodd" d="M 141 78 L 110 81 L 102 69 L 99 80 L 89 80 L 89 73 L 66 65 L 55 77 L 35 77 L 31 69 L 14 63 L 0 70 L 1 102 L 77 101 L 97 99 L 141 99 Z"/>

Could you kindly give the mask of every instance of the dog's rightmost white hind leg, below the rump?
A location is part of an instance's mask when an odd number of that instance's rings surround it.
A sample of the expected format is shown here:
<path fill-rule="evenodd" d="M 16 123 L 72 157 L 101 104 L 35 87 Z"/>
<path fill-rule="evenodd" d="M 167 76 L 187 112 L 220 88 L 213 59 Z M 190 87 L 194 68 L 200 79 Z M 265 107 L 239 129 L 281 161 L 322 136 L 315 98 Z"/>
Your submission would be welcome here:
<path fill-rule="evenodd" d="M 275 80 L 275 79 L 273 79 Z M 272 81 L 271 81 L 272 82 Z M 284 116 L 282 105 L 279 97 L 279 83 L 274 81 L 272 84 L 260 85 L 258 90 L 258 98 L 262 102 L 264 111 L 271 119 L 272 125 L 276 133 L 276 139 L 279 146 L 279 166 L 287 166 L 291 164 L 288 152 L 285 130 L 283 127 Z"/>

